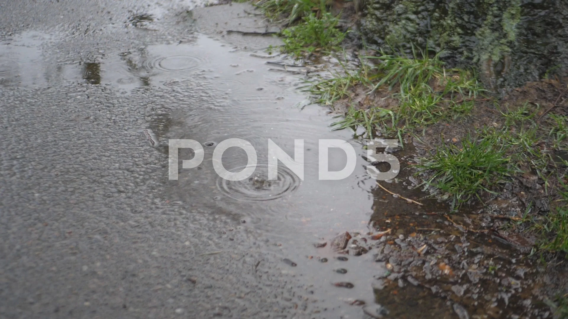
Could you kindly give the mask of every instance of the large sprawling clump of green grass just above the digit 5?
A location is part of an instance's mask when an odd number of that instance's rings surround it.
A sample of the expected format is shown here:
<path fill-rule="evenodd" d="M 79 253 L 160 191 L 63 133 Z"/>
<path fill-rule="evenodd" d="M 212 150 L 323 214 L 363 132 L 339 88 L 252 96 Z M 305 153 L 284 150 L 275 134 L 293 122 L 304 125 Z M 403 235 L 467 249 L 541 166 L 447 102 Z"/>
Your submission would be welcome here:
<path fill-rule="evenodd" d="M 373 119 L 371 123 L 359 125 L 372 129 L 365 136 L 377 133 L 400 136 L 440 120 L 455 120 L 469 114 L 474 100 L 485 91 L 473 74 L 465 70 L 446 70 L 438 55 L 419 58 L 419 54 L 424 53 L 415 52 L 415 58 L 365 56 L 358 71 L 345 71 L 343 76 L 334 74 L 332 78 L 312 82 L 309 91 L 317 96 L 319 103 L 332 107 L 337 100 L 348 97 L 356 84 L 366 86 L 369 94 L 381 89 L 396 91 L 391 97 L 398 99 L 399 104 L 390 113 L 382 108 L 365 110 L 367 119 Z M 356 124 L 365 117 L 353 108 L 346 112 L 345 120 L 334 124 L 336 128 L 356 130 Z"/>

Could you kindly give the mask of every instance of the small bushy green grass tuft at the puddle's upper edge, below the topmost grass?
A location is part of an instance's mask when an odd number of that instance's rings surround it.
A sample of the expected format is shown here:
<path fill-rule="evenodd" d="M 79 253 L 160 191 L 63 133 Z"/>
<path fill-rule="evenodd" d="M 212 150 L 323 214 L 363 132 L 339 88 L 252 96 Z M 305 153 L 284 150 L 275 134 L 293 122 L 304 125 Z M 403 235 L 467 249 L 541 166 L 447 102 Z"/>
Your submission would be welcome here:
<path fill-rule="evenodd" d="M 283 52 L 295 56 L 313 53 L 316 49 L 335 51 L 345 38 L 345 33 L 337 29 L 339 19 L 331 13 L 317 18 L 310 14 L 302 18 L 302 23 L 282 31 Z"/>

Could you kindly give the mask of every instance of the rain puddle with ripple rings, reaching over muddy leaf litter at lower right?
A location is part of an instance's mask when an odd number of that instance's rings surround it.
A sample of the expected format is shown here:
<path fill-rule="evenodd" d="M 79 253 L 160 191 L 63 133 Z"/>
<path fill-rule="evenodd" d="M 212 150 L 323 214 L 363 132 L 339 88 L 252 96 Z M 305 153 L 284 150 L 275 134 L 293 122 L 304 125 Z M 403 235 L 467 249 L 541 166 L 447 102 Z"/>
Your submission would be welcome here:
<path fill-rule="evenodd" d="M 141 27 L 152 17 L 132 19 Z M 106 85 L 123 94 L 151 86 L 191 91 L 193 98 L 179 100 L 171 114 L 130 129 L 165 154 L 168 139 L 203 145 L 203 162 L 193 169 L 182 169 L 181 161 L 194 154 L 179 150 L 179 179 L 167 182 L 165 198 L 192 211 L 205 208 L 241 220 L 256 232 L 255 245 L 277 252 L 283 273 L 309 287 L 310 301 L 323 316 L 549 316 L 535 299 L 542 280 L 522 243 L 515 246 L 503 234 L 485 232 L 494 220 L 474 213 L 445 215 L 446 205 L 424 199 L 407 169 L 415 154 L 411 141 L 393 153 L 402 173 L 377 186 L 366 173 L 370 164 L 361 141 L 351 132 L 331 131 L 328 110 L 296 90 L 304 85 L 298 75 L 285 68 L 275 72 L 277 66 L 266 63 L 280 57 L 260 58 L 198 36 L 195 43 L 147 45 L 107 53 L 102 61 L 51 66 L 41 54 L 50 40 L 29 32 L 0 43 L 0 85 L 44 86 L 57 80 Z M 254 173 L 242 181 L 215 173 L 213 152 L 228 138 L 250 142 L 257 153 Z M 303 179 L 282 163 L 277 179 L 268 178 L 269 139 L 290 156 L 295 140 L 303 140 Z M 348 141 L 356 150 L 348 178 L 318 179 L 321 139 Z M 328 159 L 329 171 L 342 170 L 347 162 L 337 148 L 329 149 Z M 229 148 L 222 164 L 240 171 L 248 165 L 247 154 Z"/>

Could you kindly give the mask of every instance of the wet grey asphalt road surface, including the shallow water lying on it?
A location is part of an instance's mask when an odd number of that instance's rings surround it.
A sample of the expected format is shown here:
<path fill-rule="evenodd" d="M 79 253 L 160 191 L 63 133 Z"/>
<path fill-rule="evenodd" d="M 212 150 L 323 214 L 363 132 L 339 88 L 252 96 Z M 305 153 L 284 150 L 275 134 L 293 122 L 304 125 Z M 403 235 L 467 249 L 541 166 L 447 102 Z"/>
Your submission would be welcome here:
<path fill-rule="evenodd" d="M 303 273 L 282 259 L 300 268 L 318 236 L 368 221 L 372 196 L 357 186 L 363 166 L 344 184 L 286 175 L 276 193 L 298 197 L 276 204 L 243 203 L 239 196 L 264 195 L 219 186 L 207 165 L 207 174 L 168 181 L 168 138 L 265 145 L 280 137 L 290 151 L 294 136 L 279 130 L 295 120 L 304 121 L 289 128 L 296 138 L 349 137 L 329 130 L 323 108 L 300 113 L 306 95 L 291 90 L 297 79 L 261 70 L 265 61 L 249 56 L 278 39 L 202 35 L 215 35 L 224 19 L 226 28 L 249 30 L 262 19 L 238 20 L 242 12 L 230 8 L 189 11 L 197 5 L 0 1 L 0 318 L 361 316 L 332 310 L 343 301 L 327 292 L 325 276 L 314 279 L 321 263 Z M 239 72 L 253 75 L 232 79 Z M 219 90 L 231 83 L 256 93 Z M 269 107 L 247 109 L 250 100 Z M 268 126 L 254 126 L 267 117 Z M 308 153 L 316 145 L 307 142 Z M 318 232 L 302 228 L 318 212 L 349 209 L 362 210 L 345 224 L 322 217 Z"/>

